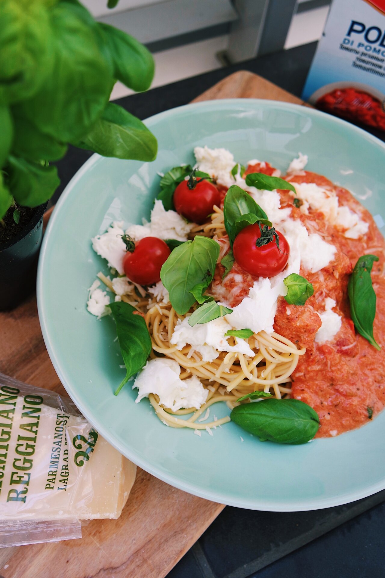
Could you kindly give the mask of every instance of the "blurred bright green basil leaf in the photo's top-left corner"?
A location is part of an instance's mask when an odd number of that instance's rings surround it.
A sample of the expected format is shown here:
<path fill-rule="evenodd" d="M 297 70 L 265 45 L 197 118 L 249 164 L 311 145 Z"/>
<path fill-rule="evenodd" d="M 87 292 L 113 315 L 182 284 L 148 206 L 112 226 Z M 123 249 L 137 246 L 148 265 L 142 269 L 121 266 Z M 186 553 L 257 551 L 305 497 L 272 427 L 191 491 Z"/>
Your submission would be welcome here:
<path fill-rule="evenodd" d="M 53 34 L 43 2 L 1 0 L 0 103 L 31 97 L 52 76 Z"/>

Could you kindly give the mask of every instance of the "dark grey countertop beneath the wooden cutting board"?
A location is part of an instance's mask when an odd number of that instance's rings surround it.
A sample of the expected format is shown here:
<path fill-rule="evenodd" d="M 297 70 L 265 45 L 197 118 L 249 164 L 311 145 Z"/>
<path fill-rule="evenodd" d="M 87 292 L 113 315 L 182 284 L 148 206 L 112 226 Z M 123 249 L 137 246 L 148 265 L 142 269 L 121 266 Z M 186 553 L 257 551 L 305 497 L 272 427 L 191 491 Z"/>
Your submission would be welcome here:
<path fill-rule="evenodd" d="M 139 118 L 188 103 L 238 70 L 256 72 L 300 97 L 316 43 L 181 80 L 117 101 Z M 385 135 L 371 130 L 379 138 Z M 70 148 L 58 162 L 61 186 L 91 156 Z M 380 578 L 385 576 L 385 491 L 314 512 L 226 507 L 168 578 Z"/>

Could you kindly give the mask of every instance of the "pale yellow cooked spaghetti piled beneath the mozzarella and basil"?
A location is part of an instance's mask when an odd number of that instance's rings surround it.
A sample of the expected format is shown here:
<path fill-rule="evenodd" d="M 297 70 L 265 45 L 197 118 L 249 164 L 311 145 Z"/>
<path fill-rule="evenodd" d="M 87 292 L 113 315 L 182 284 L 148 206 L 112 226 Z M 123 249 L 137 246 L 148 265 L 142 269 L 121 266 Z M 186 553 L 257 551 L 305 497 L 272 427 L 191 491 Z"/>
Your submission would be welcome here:
<path fill-rule="evenodd" d="M 217 226 L 215 225 L 215 230 Z M 98 277 L 114 291 L 113 284 L 106 276 L 99 273 Z M 178 315 L 170 302 L 158 303 L 149 296 L 140 297 L 138 301 L 131 295 L 129 297 L 123 295 L 121 298 L 144 316 L 151 336 L 151 358 L 165 355 L 177 361 L 184 370 L 180 375 L 182 380 L 195 375 L 208 390 L 207 401 L 199 410 L 190 407 L 175 412 L 160 405 L 156 394 L 149 394 L 149 401 L 156 415 L 166 425 L 174 428 L 214 428 L 230 421 L 230 417 L 226 416 L 210 423 L 197 423 L 197 418 L 213 403 L 227 402 L 227 405 L 233 408 L 237 405 L 238 398 L 256 390 L 271 392 L 278 399 L 290 396 L 290 375 L 296 368 L 300 355 L 305 353 L 305 348 L 298 349 L 289 339 L 275 332 L 268 335 L 261 331 L 246 340 L 255 352 L 255 357 L 221 351 L 214 361 L 203 361 L 201 354 L 195 351 L 193 346 L 187 344 L 178 350 L 177 346 L 170 343 L 175 326 L 185 317 Z M 192 416 L 188 419 L 178 417 L 190 413 Z"/>

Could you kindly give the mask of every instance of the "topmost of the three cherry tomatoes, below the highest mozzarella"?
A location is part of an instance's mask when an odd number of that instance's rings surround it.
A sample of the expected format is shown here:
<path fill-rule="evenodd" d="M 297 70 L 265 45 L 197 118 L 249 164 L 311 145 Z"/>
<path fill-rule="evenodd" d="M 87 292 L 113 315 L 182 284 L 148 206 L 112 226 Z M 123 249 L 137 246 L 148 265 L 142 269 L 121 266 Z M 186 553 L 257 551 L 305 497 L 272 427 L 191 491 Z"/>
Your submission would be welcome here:
<path fill-rule="evenodd" d="M 177 213 L 193 223 L 204 223 L 214 205 L 220 205 L 220 193 L 214 184 L 190 177 L 178 184 L 174 192 Z"/>

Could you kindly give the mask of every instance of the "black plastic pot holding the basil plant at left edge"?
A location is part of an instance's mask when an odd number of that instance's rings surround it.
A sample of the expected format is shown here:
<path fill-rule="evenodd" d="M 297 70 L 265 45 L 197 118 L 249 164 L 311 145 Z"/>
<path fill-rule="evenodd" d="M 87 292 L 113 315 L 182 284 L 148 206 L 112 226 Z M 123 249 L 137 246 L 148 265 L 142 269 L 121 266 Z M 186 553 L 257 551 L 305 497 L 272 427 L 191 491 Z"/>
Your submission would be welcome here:
<path fill-rule="evenodd" d="M 0 311 L 13 309 L 35 290 L 47 203 L 13 239 L 0 243 Z"/>

